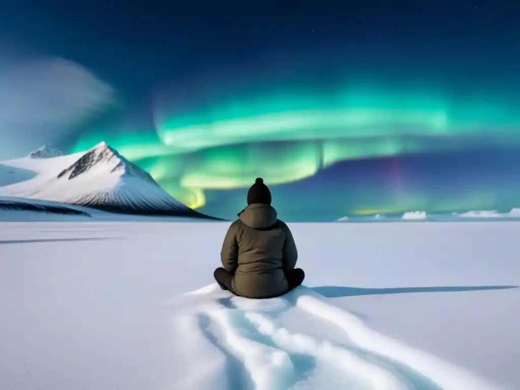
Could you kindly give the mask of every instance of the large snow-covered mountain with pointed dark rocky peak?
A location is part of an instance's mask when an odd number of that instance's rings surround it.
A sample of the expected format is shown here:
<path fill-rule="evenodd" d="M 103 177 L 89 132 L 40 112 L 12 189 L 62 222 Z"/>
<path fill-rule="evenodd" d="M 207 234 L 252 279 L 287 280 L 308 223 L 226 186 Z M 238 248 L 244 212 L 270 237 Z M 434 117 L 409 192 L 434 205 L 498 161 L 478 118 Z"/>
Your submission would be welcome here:
<path fill-rule="evenodd" d="M 105 142 L 86 152 L 44 159 L 22 158 L 2 164 L 33 171 L 35 176 L 0 187 L 0 195 L 78 204 L 116 213 L 211 218 L 172 198 L 146 171 Z"/>

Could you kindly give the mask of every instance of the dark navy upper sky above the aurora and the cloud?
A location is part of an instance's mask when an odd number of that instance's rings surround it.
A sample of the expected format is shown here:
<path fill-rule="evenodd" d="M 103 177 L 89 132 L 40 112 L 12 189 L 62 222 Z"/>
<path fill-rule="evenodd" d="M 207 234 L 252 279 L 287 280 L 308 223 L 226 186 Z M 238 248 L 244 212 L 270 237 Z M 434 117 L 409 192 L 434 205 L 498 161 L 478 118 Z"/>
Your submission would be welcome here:
<path fill-rule="evenodd" d="M 128 98 L 273 53 L 436 61 L 460 76 L 468 71 L 462 64 L 475 68 L 470 73 L 506 72 L 520 59 L 520 4 L 512 1 L 211 3 L 3 1 L 0 37 L 79 62 Z"/>

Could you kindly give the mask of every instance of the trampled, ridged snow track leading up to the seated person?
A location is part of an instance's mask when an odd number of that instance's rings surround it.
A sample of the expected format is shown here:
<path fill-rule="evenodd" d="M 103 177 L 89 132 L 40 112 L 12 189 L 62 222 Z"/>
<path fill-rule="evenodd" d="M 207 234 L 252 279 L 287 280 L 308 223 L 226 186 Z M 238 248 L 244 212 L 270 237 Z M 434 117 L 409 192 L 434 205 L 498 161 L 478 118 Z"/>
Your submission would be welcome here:
<path fill-rule="evenodd" d="M 283 297 L 248 300 L 213 284 L 171 305 L 172 334 L 186 365 L 186 370 L 178 370 L 184 374 L 176 378 L 176 388 L 215 388 L 218 369 L 189 369 L 201 356 L 213 366 L 225 356 L 240 369 L 227 375 L 219 388 L 496 388 L 368 328 L 303 286 Z M 302 332 L 297 326 L 302 322 L 312 326 Z"/>

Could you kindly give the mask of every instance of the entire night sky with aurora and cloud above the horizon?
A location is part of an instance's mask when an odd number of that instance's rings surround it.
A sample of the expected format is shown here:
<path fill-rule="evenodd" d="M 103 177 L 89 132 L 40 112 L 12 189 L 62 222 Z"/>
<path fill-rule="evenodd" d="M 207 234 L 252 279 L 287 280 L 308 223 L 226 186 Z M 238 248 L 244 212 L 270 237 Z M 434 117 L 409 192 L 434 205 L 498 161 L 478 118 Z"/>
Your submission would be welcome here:
<path fill-rule="evenodd" d="M 1 2 L 0 157 L 105 140 L 229 218 L 257 176 L 287 220 L 520 207 L 520 4 L 285 3 Z"/>

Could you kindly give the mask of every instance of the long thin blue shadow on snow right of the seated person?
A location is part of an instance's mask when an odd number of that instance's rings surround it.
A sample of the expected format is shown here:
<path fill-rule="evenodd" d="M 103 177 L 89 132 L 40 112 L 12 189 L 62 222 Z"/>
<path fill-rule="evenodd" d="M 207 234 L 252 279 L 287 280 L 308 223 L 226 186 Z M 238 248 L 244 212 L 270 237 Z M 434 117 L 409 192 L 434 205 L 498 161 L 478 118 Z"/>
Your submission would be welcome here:
<path fill-rule="evenodd" d="M 517 289 L 517 285 L 481 285 L 481 286 L 443 286 L 443 287 L 396 287 L 396 288 L 361 288 L 341 286 L 312 287 L 311 290 L 327 298 L 340 298 L 359 295 L 386 295 L 427 292 L 460 292 L 482 290 Z"/>

